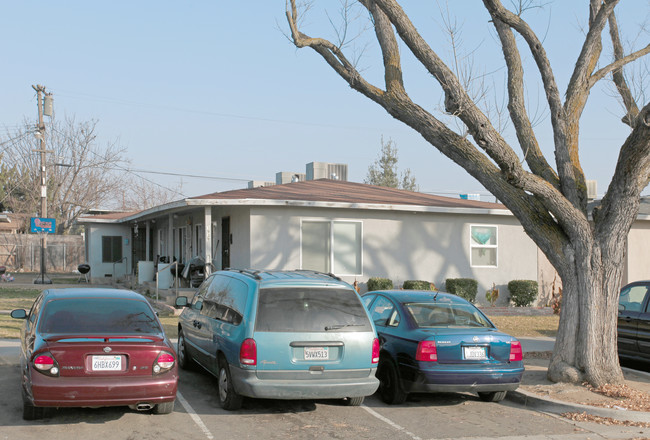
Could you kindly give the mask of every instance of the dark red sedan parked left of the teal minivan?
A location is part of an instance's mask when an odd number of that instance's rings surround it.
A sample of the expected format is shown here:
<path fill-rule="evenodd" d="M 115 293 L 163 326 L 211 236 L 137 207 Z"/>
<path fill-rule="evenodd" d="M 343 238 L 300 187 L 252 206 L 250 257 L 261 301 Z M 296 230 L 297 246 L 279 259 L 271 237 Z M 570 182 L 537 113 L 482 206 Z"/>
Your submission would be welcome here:
<path fill-rule="evenodd" d="M 44 407 L 174 409 L 176 352 L 149 302 L 114 289 L 50 289 L 27 313 L 21 333 L 23 418 Z"/>

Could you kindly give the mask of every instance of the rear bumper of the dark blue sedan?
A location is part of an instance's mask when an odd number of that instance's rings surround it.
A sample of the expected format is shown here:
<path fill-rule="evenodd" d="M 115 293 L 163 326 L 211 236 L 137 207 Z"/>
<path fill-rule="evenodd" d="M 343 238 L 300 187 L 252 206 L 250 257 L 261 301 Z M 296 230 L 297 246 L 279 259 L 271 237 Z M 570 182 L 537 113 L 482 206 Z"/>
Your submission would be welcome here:
<path fill-rule="evenodd" d="M 510 370 L 425 370 L 402 379 L 404 391 L 417 392 L 491 392 L 513 391 L 519 387 L 524 369 Z"/>

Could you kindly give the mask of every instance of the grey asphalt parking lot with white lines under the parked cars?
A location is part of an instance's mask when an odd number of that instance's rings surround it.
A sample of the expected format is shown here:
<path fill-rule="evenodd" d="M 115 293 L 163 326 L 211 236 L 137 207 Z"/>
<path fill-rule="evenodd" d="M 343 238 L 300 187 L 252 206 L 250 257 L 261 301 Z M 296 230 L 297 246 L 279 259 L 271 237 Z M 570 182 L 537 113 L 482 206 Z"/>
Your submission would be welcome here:
<path fill-rule="evenodd" d="M 126 407 L 49 410 L 36 422 L 22 419 L 18 341 L 0 341 L 0 439 L 486 439 L 634 438 L 650 430 L 576 424 L 513 403 L 481 402 L 472 394 L 414 395 L 388 406 L 370 396 L 361 407 L 337 401 L 244 401 L 240 411 L 219 407 L 216 381 L 182 371 L 170 415 Z"/>

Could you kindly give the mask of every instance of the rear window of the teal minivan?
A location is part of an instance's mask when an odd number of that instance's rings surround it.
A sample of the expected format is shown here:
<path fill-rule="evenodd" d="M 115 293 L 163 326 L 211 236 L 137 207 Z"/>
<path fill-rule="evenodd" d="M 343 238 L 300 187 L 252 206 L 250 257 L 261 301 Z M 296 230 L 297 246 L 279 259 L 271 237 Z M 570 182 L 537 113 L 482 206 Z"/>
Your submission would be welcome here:
<path fill-rule="evenodd" d="M 260 289 L 256 331 L 372 331 L 358 295 L 347 289 Z"/>

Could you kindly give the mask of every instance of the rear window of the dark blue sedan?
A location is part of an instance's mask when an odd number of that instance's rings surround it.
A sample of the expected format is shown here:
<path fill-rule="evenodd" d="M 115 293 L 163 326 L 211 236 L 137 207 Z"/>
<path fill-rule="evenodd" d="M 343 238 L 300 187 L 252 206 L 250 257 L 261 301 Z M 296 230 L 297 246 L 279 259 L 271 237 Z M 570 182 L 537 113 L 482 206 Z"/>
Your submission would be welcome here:
<path fill-rule="evenodd" d="M 418 327 L 493 327 L 471 304 L 425 302 L 404 306 Z"/>

